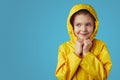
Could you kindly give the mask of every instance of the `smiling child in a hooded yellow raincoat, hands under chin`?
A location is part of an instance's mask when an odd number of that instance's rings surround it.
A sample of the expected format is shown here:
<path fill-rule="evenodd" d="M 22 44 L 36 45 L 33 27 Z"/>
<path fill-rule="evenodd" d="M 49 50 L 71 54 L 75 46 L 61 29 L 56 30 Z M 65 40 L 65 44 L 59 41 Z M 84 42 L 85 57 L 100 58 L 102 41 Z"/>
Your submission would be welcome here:
<path fill-rule="evenodd" d="M 60 45 L 59 80 L 107 80 L 112 62 L 105 43 L 95 39 L 98 18 L 88 4 L 73 6 L 67 20 L 70 41 Z"/>

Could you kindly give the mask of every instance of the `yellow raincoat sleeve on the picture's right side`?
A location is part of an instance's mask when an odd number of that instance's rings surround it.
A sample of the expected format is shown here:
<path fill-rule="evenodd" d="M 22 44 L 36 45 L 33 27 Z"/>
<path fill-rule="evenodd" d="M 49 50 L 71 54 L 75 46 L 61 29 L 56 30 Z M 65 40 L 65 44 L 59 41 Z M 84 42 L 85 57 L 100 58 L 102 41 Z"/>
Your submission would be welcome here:
<path fill-rule="evenodd" d="M 80 66 L 91 74 L 95 80 L 107 80 L 112 62 L 106 45 L 102 46 L 98 57 L 88 52 L 81 61 Z"/>

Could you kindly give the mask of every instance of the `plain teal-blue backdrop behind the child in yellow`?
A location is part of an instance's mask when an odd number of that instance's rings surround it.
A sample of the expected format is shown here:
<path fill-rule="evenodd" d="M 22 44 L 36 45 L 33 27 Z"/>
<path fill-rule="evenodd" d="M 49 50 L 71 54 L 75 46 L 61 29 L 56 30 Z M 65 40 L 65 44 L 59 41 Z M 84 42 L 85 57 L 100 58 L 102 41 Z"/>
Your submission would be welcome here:
<path fill-rule="evenodd" d="M 108 80 L 120 80 L 119 0 L 0 0 L 0 80 L 57 80 L 58 46 L 69 40 L 66 20 L 77 3 L 97 11 L 97 38 L 113 62 Z"/>

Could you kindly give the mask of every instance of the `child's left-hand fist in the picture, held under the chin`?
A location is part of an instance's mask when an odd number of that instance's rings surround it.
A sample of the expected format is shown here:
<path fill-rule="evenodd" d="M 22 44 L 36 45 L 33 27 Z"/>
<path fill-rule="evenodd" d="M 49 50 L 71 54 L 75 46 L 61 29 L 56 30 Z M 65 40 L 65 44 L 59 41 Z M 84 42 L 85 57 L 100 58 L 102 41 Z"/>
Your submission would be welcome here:
<path fill-rule="evenodd" d="M 75 44 L 75 53 L 76 55 L 80 56 L 82 54 L 82 51 L 83 51 L 83 41 L 79 41 L 77 40 L 76 41 L 76 44 Z"/>

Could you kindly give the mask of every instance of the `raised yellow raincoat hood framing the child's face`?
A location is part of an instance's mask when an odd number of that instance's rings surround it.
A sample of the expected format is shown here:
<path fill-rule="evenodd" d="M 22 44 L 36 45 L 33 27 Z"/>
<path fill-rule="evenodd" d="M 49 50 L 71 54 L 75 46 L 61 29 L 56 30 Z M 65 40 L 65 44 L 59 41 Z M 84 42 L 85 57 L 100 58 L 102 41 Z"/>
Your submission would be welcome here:
<path fill-rule="evenodd" d="M 73 8 L 70 10 L 70 13 L 68 15 L 68 19 L 67 19 L 67 29 L 68 29 L 68 34 L 70 36 L 70 40 L 72 42 L 75 42 L 77 40 L 77 37 L 74 35 L 74 31 L 73 31 L 73 27 L 70 23 L 70 19 L 72 17 L 72 15 L 74 13 L 76 13 L 79 10 L 82 9 L 86 9 L 88 10 L 95 18 L 95 28 L 94 28 L 94 32 L 92 33 L 92 35 L 90 36 L 90 40 L 94 40 L 96 33 L 98 31 L 98 17 L 96 14 L 96 11 L 94 10 L 94 8 L 92 6 L 90 6 L 89 4 L 76 4 L 75 6 L 73 6 Z"/>

